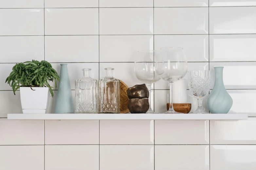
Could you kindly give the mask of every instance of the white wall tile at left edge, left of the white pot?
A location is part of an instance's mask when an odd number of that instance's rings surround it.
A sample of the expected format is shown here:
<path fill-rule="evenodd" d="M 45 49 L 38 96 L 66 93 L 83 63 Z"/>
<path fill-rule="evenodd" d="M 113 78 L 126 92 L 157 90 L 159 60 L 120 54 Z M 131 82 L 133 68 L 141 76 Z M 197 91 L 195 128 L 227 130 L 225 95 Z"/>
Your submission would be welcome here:
<path fill-rule="evenodd" d="M 16 95 L 12 90 L 0 91 L 0 101 L 0 118 L 7 118 L 8 113 L 22 113 L 20 91 L 16 91 Z"/>

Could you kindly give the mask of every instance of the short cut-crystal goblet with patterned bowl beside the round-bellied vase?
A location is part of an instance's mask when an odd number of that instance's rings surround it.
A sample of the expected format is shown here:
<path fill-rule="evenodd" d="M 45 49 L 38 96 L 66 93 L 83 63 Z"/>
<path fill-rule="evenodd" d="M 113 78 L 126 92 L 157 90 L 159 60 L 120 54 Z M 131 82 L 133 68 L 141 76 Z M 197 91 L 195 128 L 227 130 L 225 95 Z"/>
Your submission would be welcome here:
<path fill-rule="evenodd" d="M 210 90 L 210 71 L 194 70 L 189 71 L 189 91 L 197 99 L 198 107 L 192 113 L 208 113 L 202 108 L 203 98 Z"/>

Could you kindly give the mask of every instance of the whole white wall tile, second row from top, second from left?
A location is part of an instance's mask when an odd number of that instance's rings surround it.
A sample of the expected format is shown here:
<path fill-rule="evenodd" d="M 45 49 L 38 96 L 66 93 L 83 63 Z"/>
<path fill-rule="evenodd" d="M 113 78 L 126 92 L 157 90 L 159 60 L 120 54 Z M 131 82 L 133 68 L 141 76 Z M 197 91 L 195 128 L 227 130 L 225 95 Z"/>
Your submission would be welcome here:
<path fill-rule="evenodd" d="M 98 35 L 98 16 L 98 8 L 45 8 L 45 35 Z"/>

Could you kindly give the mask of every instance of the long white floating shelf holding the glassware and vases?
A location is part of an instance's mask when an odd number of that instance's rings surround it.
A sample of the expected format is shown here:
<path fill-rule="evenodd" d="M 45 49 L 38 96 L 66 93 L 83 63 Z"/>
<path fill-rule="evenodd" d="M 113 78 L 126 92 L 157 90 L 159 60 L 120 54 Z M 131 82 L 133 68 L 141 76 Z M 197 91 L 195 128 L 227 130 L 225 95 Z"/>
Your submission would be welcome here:
<path fill-rule="evenodd" d="M 13 120 L 246 120 L 247 114 L 8 114 Z"/>

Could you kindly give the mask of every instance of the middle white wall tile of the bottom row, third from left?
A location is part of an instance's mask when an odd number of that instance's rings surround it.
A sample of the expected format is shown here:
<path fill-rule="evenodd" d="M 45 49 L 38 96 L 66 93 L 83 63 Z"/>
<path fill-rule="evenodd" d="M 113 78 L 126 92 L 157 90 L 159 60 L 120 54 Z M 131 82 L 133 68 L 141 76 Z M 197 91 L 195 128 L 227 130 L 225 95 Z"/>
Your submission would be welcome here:
<path fill-rule="evenodd" d="M 154 170 L 154 145 L 100 145 L 101 170 Z"/>

